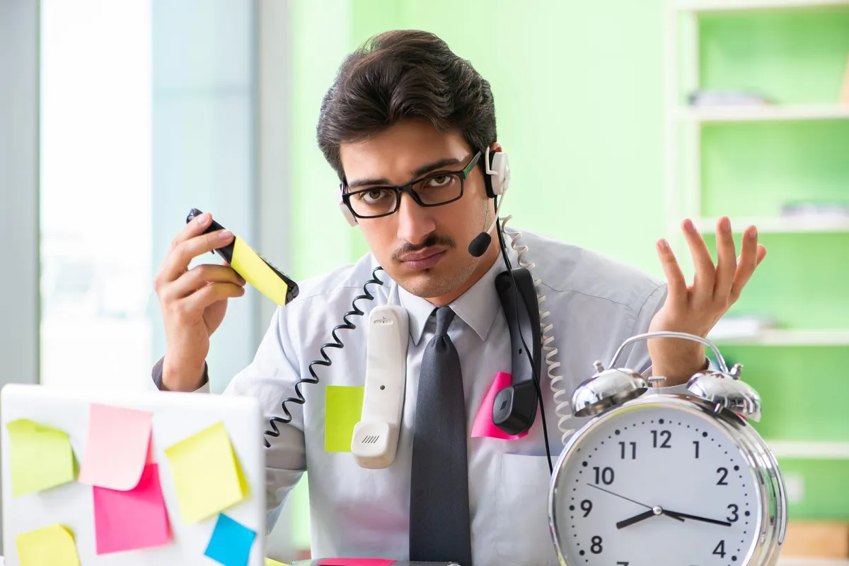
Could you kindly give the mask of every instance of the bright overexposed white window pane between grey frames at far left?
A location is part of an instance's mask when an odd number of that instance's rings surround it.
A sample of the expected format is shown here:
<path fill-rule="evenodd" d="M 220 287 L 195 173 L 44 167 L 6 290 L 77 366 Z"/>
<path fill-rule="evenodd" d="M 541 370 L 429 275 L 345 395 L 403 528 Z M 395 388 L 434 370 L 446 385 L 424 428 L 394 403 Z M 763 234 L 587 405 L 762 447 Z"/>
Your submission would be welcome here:
<path fill-rule="evenodd" d="M 151 358 L 149 0 L 43 0 L 43 384 L 126 388 Z"/>

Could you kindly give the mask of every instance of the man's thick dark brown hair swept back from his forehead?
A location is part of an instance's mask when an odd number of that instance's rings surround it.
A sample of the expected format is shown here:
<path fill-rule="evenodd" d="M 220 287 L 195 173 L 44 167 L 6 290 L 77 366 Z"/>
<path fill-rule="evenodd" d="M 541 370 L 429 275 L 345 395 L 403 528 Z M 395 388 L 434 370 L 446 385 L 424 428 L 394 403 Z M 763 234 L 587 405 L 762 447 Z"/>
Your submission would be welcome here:
<path fill-rule="evenodd" d="M 318 146 L 345 182 L 341 143 L 414 117 L 440 131 L 462 131 L 473 151 L 497 139 L 489 82 L 469 61 L 432 33 L 386 31 L 341 64 L 322 101 Z"/>

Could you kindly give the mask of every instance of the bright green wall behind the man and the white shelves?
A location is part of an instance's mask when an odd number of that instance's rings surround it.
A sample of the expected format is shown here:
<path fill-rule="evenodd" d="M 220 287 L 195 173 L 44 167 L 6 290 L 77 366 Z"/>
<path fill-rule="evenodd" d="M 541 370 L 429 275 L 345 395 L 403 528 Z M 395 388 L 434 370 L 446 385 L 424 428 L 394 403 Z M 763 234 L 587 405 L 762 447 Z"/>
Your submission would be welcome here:
<path fill-rule="evenodd" d="M 293 275 L 317 275 L 367 251 L 335 211 L 338 180 L 315 142 L 318 107 L 351 49 L 380 31 L 417 28 L 441 36 L 492 83 L 498 139 L 513 170 L 503 214 L 661 276 L 654 242 L 666 236 L 662 7 L 661 0 L 293 3 Z M 706 86 L 762 86 L 782 103 L 833 102 L 849 53 L 849 10 L 711 17 L 701 26 L 700 52 Z M 703 144 L 706 215 L 775 214 L 793 196 L 849 199 L 846 122 L 711 125 Z M 839 281 L 849 276 L 849 236 L 763 241 L 767 261 L 735 309 L 778 314 L 793 326 L 846 328 L 849 293 Z M 745 363 L 762 393 L 765 436 L 849 437 L 841 413 L 846 348 L 726 353 Z M 827 387 L 823 404 L 807 393 L 814 384 Z M 830 487 L 823 491 L 834 482 L 821 481 L 849 473 L 846 463 L 787 465 L 805 473 L 810 496 L 794 516 L 849 509 L 846 491 L 835 500 Z M 299 541 L 308 541 L 305 484 L 294 500 L 305 518 L 296 521 Z"/>

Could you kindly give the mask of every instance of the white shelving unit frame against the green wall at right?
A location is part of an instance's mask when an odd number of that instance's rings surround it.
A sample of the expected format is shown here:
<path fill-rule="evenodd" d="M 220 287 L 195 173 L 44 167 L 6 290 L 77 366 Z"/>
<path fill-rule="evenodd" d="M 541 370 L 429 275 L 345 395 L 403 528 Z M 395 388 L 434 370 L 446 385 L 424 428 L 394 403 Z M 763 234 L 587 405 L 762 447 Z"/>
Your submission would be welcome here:
<path fill-rule="evenodd" d="M 701 137 L 704 126 L 713 124 L 801 122 L 812 120 L 849 120 L 849 105 L 734 104 L 726 106 L 686 105 L 682 92 L 700 88 L 699 22 L 703 14 L 758 10 L 806 10 L 849 6 L 849 0 L 668 0 L 666 4 L 665 77 L 665 208 L 667 239 L 685 271 L 692 273 L 689 249 L 683 240 L 681 221 L 693 219 L 703 234 L 716 231 L 717 219 L 708 218 L 701 209 Z M 802 189 L 799 195 L 805 193 Z M 832 216 L 771 216 L 731 218 L 740 233 L 756 225 L 760 234 L 849 234 L 849 218 Z M 849 326 L 849 324 L 847 324 Z M 849 347 L 849 328 L 839 329 L 768 329 L 753 336 L 711 337 L 718 346 L 756 347 Z M 807 460 L 849 460 L 849 441 L 790 441 L 767 439 L 778 458 Z M 849 566 L 849 559 L 782 557 L 779 566 Z"/>

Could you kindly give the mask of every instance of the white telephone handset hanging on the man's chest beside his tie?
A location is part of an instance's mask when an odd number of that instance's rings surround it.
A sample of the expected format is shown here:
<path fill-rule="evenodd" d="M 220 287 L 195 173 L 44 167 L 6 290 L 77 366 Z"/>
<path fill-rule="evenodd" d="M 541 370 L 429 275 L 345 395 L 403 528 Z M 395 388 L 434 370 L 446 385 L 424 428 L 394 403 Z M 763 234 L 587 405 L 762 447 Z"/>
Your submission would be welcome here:
<path fill-rule="evenodd" d="M 363 413 L 351 452 L 362 468 L 385 468 L 395 459 L 404 407 L 409 342 L 407 311 L 380 305 L 368 315 Z"/>

